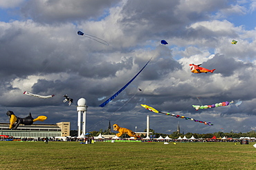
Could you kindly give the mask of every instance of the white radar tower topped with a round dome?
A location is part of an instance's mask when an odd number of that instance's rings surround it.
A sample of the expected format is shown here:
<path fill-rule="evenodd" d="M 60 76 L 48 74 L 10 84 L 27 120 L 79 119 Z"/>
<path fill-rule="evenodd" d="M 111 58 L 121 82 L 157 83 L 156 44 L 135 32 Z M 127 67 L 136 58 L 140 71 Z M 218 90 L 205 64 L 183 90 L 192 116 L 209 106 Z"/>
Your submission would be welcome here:
<path fill-rule="evenodd" d="M 77 137 L 84 137 L 84 134 L 86 133 L 86 111 L 87 111 L 86 106 L 86 100 L 84 98 L 80 98 L 80 100 L 77 101 L 77 126 L 78 126 L 78 131 L 77 131 Z M 81 114 L 82 114 L 82 122 L 81 122 Z M 82 123 L 82 134 L 81 134 L 81 123 Z"/>

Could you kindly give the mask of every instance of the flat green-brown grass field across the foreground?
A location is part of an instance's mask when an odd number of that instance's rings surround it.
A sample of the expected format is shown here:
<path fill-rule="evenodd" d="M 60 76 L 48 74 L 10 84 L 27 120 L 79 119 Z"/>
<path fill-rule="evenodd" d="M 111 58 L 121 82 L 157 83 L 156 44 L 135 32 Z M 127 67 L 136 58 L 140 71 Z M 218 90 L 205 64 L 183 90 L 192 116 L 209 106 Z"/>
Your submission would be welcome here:
<path fill-rule="evenodd" d="M 0 169 L 256 169 L 253 144 L 1 141 Z"/>

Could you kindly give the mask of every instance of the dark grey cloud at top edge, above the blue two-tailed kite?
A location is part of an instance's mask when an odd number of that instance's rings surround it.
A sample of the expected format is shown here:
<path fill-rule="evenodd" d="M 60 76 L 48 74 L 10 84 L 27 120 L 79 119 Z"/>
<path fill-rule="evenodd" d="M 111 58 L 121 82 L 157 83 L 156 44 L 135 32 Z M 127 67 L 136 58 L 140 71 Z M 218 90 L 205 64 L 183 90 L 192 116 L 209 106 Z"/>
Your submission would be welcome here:
<path fill-rule="evenodd" d="M 21 6 L 21 14 L 25 18 L 33 19 L 39 23 L 63 23 L 84 21 L 87 19 L 99 19 L 105 15 L 109 15 L 108 9 L 118 1 L 26 1 Z"/>

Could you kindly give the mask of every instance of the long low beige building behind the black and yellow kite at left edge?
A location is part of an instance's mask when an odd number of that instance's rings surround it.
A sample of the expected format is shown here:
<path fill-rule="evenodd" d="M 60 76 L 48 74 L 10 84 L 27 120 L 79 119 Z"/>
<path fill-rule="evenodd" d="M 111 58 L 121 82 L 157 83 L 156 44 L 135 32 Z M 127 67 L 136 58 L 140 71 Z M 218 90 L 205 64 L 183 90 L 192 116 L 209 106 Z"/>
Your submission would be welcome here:
<path fill-rule="evenodd" d="M 14 138 L 51 138 L 70 135 L 70 122 L 57 124 L 20 124 L 16 130 L 9 129 L 10 124 L 0 123 L 0 135 L 8 135 Z"/>

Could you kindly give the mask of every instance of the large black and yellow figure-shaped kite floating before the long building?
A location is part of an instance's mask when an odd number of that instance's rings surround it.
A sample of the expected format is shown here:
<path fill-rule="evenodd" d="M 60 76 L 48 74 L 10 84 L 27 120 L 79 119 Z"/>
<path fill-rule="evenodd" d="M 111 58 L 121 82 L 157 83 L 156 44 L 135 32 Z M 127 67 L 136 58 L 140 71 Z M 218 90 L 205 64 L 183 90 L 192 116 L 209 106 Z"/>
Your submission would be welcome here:
<path fill-rule="evenodd" d="M 47 119 L 45 115 L 39 115 L 36 119 L 31 116 L 31 113 L 27 117 L 20 118 L 13 113 L 13 111 L 7 111 L 6 115 L 10 118 L 10 129 L 16 130 L 19 124 L 31 125 L 35 121 L 44 122 Z"/>

